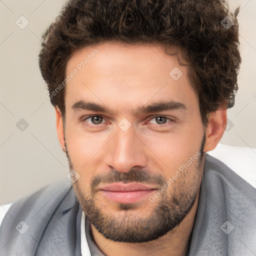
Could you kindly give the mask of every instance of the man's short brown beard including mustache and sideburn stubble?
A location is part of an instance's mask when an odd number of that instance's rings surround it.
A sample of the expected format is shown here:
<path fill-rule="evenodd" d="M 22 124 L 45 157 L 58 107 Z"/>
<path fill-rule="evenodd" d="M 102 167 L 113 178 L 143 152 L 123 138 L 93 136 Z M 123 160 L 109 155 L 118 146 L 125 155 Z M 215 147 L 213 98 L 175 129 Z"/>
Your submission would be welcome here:
<path fill-rule="evenodd" d="M 132 168 L 128 172 L 122 173 L 111 170 L 106 174 L 94 176 L 90 182 L 90 193 L 85 193 L 84 189 L 82 190 L 78 179 L 73 183 L 78 202 L 90 223 L 107 239 L 129 243 L 157 239 L 173 230 L 184 219 L 195 202 L 203 171 L 204 144 L 205 134 L 201 141 L 200 155 L 197 158 L 195 168 L 187 168 L 182 172 L 175 182 L 171 184 L 173 186 L 171 193 L 168 194 L 167 191 L 162 193 L 156 200 L 157 206 L 147 217 L 130 215 L 129 210 L 137 208 L 139 203 L 118 203 L 118 209 L 125 212 L 121 217 L 116 217 L 107 209 L 104 212 L 104 207 L 100 207 L 101 204 L 95 197 L 96 186 L 100 182 L 151 182 L 161 186 L 166 182 L 162 175 L 150 174 L 148 171 L 139 168 Z M 73 169 L 67 147 L 66 155 L 69 168 Z M 187 173 L 191 172 L 193 176 L 186 178 Z M 97 203 L 99 205 L 96 205 Z"/>

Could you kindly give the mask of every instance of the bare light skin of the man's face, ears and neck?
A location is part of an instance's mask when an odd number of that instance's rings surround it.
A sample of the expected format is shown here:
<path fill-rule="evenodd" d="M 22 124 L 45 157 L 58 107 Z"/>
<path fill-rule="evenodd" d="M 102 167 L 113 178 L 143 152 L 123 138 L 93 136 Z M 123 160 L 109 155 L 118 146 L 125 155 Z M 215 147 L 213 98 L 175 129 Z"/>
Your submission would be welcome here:
<path fill-rule="evenodd" d="M 106 175 L 109 169 L 127 173 L 139 166 L 151 175 L 160 175 L 167 180 L 200 150 L 204 134 L 203 152 L 215 148 L 224 132 L 226 110 L 219 108 L 211 112 L 204 127 L 198 98 L 188 79 L 188 67 L 179 65 L 176 56 L 167 55 L 158 44 L 105 42 L 75 51 L 67 62 L 66 74 L 95 48 L 99 52 L 65 86 L 65 120 L 55 107 L 60 145 L 64 151 L 68 150 L 69 163 L 80 175 L 73 184 L 78 199 L 88 198 L 93 177 Z M 178 80 L 169 75 L 174 67 L 183 73 Z M 113 113 L 73 109 L 72 105 L 79 100 L 102 104 Z M 137 106 L 169 100 L 181 102 L 185 109 L 133 114 Z M 84 119 L 87 115 L 102 116 L 102 123 L 93 124 L 91 118 Z M 154 118 L 157 116 L 167 117 L 166 122 L 158 124 Z M 118 126 L 123 118 L 131 124 L 126 131 Z M 196 194 L 190 211 L 177 226 L 157 239 L 129 243 L 108 239 L 92 225 L 92 236 L 100 250 L 107 256 L 119 255 L 120 251 L 124 256 L 148 255 L 149 251 L 152 255 L 170 255 L 170 252 L 171 255 L 184 255 L 203 173 L 203 164 L 196 168 L 196 163 L 194 161 L 162 195 L 162 199 L 171 199 L 173 194 L 182 191 L 180 184 Z M 149 185 L 155 189 L 161 187 L 153 182 Z M 151 195 L 155 191 L 152 190 Z M 102 213 L 106 217 L 114 216 L 118 221 L 146 219 L 161 200 L 151 202 L 146 196 L 125 210 L 100 191 L 95 193 L 95 198 Z M 86 212 L 84 205 L 82 208 Z"/>

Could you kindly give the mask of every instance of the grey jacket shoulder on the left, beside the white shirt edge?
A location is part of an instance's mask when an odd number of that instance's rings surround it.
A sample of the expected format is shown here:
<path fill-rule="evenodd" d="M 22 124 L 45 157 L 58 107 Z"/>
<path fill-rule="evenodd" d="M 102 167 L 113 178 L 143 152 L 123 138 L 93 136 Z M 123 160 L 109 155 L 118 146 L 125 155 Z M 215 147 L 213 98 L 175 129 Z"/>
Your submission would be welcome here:
<path fill-rule="evenodd" d="M 4 255 L 44 255 L 49 251 L 72 255 L 79 206 L 70 181 L 47 185 L 14 202 L 0 227 Z M 75 244 L 75 243 L 74 243 Z"/>

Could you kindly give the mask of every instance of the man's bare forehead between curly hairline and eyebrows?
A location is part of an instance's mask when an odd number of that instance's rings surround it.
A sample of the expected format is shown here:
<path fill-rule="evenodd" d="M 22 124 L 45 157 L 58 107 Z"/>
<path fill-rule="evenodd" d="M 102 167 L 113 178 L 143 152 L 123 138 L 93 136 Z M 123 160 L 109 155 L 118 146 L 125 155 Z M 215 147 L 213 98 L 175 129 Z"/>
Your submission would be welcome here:
<path fill-rule="evenodd" d="M 65 88 L 69 107 L 88 99 L 130 110 L 149 101 L 175 100 L 185 105 L 186 101 L 197 101 L 188 67 L 179 65 L 175 55 L 166 54 L 157 44 L 104 42 L 85 46 L 68 60 L 66 75 L 72 72 L 75 75 Z"/>

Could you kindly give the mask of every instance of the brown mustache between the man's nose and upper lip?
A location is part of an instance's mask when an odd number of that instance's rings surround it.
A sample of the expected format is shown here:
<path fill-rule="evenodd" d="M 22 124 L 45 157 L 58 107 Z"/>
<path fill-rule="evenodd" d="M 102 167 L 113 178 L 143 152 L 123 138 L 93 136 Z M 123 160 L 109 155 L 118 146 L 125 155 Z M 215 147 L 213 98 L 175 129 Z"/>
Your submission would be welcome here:
<path fill-rule="evenodd" d="M 152 174 L 146 170 L 138 168 L 130 169 L 127 172 L 119 172 L 117 170 L 110 170 L 105 174 L 98 174 L 91 178 L 91 190 L 95 190 L 99 183 L 113 183 L 113 182 L 140 182 L 140 183 L 154 183 L 162 185 L 165 179 L 160 174 Z"/>

